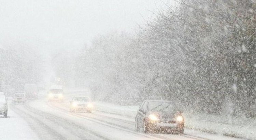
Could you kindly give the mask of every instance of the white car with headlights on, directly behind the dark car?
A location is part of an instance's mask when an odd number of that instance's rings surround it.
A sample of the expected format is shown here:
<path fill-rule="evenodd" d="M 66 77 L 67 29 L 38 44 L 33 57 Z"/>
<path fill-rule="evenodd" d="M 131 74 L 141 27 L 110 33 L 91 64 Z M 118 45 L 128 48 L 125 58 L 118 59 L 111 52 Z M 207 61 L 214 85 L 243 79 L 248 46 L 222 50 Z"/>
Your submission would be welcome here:
<path fill-rule="evenodd" d="M 70 101 L 70 112 L 86 111 L 91 113 L 93 109 L 93 103 L 88 97 L 75 96 Z"/>

